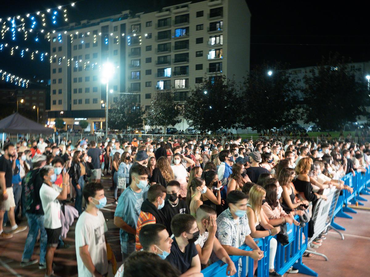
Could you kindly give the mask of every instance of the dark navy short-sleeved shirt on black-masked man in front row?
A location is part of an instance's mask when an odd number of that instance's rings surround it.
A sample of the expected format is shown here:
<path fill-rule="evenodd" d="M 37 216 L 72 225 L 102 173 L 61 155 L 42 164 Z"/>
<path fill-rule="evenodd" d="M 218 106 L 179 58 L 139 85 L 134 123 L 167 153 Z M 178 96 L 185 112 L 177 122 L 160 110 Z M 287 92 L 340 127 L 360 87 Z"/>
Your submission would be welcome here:
<path fill-rule="evenodd" d="M 198 255 L 198 251 L 194 243 L 186 245 L 185 253 L 183 253 L 177 245 L 176 238 L 174 238 L 174 242 L 171 245 L 171 253 L 166 257 L 166 260 L 180 270 L 182 274 L 191 267 L 191 261 L 196 255 Z"/>

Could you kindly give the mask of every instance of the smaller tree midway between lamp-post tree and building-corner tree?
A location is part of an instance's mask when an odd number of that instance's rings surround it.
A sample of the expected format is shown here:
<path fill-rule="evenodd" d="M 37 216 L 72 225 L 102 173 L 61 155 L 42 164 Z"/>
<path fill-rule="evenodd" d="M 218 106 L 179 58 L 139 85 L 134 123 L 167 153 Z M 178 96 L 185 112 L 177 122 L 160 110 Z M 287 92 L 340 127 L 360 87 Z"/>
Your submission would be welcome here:
<path fill-rule="evenodd" d="M 175 103 L 171 91 L 157 92 L 152 100 L 150 109 L 146 113 L 146 122 L 150 126 L 175 126 L 179 119 L 180 106 Z"/>

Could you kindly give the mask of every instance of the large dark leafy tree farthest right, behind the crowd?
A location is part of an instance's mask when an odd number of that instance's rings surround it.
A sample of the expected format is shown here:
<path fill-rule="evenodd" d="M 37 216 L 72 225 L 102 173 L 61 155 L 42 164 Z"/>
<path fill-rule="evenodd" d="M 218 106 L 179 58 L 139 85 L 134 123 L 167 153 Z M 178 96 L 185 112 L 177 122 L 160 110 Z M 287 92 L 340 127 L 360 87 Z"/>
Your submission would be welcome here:
<path fill-rule="evenodd" d="M 351 59 L 338 53 L 322 58 L 304 78 L 302 117 L 322 130 L 338 130 L 347 122 L 367 116 L 369 92 L 365 76 L 356 78 L 359 69 L 349 65 Z"/>

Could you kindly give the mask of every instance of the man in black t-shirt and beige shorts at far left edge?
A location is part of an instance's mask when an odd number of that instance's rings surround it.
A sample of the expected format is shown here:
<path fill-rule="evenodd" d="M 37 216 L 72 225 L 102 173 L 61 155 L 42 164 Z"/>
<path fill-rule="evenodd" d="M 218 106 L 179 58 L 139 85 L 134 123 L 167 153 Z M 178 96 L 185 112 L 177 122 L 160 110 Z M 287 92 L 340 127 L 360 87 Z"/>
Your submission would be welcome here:
<path fill-rule="evenodd" d="M 16 224 L 14 208 L 16 203 L 14 201 L 13 186 L 11 181 L 13 179 L 13 171 L 16 168 L 17 152 L 14 144 L 8 143 L 4 145 L 4 155 L 0 157 L 0 239 L 9 239 L 13 237 L 12 234 L 22 232 L 27 229 L 27 226 L 18 226 Z M 10 161 L 10 158 L 13 161 Z M 11 233 L 3 232 L 3 219 L 5 211 L 8 212 L 9 221 L 11 224 Z"/>

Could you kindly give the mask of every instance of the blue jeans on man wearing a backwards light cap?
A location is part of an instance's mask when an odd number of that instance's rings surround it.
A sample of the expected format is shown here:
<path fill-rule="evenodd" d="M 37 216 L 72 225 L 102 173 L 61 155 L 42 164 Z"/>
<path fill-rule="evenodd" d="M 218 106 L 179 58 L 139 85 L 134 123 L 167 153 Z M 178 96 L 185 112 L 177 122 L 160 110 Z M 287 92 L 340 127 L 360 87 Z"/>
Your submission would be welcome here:
<path fill-rule="evenodd" d="M 44 227 L 44 215 L 37 215 L 34 213 L 26 213 L 28 226 L 28 235 L 26 243 L 24 245 L 24 251 L 22 255 L 22 260 L 31 259 L 33 254 L 33 249 L 35 247 L 36 239 L 38 236 L 38 230 L 40 230 L 40 263 L 45 264 L 45 255 L 46 255 L 46 244 L 47 244 L 47 235 Z"/>

